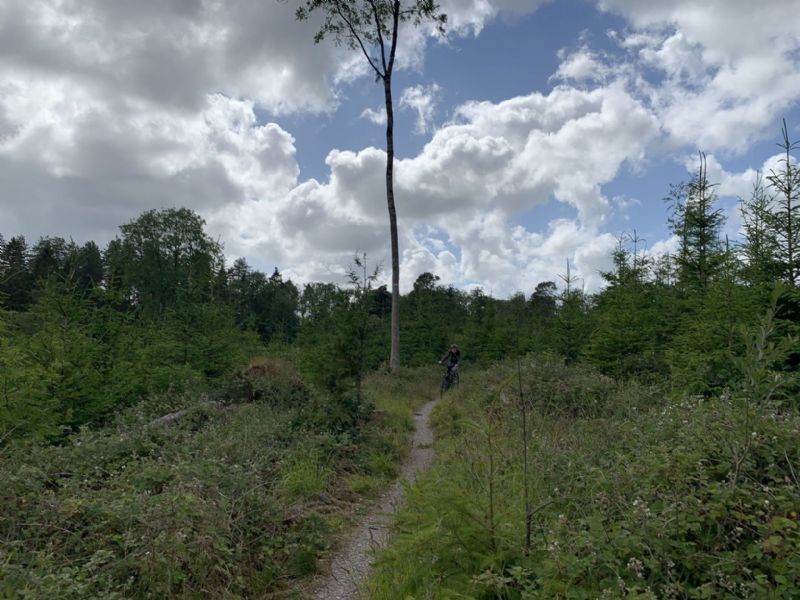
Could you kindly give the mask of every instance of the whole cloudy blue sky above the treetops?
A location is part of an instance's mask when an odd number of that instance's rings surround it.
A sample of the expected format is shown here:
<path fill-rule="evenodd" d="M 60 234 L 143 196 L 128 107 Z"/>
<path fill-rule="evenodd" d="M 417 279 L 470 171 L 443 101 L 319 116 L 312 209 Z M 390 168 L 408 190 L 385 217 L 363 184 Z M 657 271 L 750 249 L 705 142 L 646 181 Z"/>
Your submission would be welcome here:
<path fill-rule="evenodd" d="M 440 0 L 400 31 L 401 288 L 594 291 L 706 153 L 736 198 L 800 139 L 797 0 Z M 298 0 L 0 0 L 0 234 L 104 244 L 192 208 L 229 261 L 297 283 L 391 264 L 383 92 Z"/>

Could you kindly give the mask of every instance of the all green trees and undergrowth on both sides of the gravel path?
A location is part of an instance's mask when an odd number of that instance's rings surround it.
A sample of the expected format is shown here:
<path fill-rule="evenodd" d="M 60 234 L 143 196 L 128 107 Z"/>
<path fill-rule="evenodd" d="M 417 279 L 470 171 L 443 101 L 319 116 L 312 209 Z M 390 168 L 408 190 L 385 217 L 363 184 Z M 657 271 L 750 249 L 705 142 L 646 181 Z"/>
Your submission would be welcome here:
<path fill-rule="evenodd" d="M 3 232 L 0 595 L 291 590 L 346 524 L 337 504 L 396 476 L 456 343 L 441 458 L 374 597 L 792 597 L 800 169 L 782 133 L 740 239 L 700 154 L 660 192 L 676 252 L 621 235 L 597 293 L 569 262 L 510 298 L 419 274 L 399 375 L 372 257 L 296 285 L 228 264 L 184 208 L 102 248 Z"/>

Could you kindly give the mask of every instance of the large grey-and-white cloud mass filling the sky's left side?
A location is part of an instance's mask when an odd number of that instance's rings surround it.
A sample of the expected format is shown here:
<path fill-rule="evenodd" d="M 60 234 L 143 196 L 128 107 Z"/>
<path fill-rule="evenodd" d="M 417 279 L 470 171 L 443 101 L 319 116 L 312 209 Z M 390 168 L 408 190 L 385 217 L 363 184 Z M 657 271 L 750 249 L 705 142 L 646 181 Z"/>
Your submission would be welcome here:
<path fill-rule="evenodd" d="M 294 140 L 256 115 L 334 111 L 364 63 L 296 5 L 0 3 L 2 229 L 104 241 L 145 208 L 287 193 Z"/>

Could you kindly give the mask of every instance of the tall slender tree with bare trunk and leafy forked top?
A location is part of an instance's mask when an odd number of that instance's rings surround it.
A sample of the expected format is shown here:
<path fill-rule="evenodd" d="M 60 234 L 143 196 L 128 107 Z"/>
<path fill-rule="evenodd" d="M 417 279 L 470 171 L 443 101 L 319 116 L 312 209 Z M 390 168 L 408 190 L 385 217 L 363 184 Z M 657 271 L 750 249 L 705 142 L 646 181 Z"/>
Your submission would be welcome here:
<path fill-rule="evenodd" d="M 297 9 L 298 20 L 307 20 L 312 13 L 323 15 L 323 23 L 314 41 L 330 36 L 337 44 L 360 51 L 383 83 L 386 105 L 386 203 L 389 208 L 389 229 L 392 245 L 392 348 L 389 367 L 400 368 L 400 257 L 397 237 L 397 210 L 394 203 L 394 110 L 392 105 L 392 73 L 401 23 L 419 26 L 432 23 L 441 33 L 447 15 L 439 12 L 435 0 L 305 0 Z"/>

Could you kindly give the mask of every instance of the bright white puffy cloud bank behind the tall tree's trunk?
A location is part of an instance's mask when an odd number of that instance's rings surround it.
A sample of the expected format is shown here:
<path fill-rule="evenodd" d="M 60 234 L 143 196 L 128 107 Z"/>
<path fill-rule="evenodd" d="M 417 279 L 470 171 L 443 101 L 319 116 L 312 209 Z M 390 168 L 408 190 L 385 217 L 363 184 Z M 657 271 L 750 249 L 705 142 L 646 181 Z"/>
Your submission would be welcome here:
<path fill-rule="evenodd" d="M 601 186 L 638 160 L 657 132 L 617 85 L 462 105 L 419 155 L 396 164 L 404 289 L 423 269 L 496 294 L 530 291 L 567 259 L 596 289 L 614 244 L 601 229 L 610 210 Z M 335 278 L 354 249 L 387 264 L 384 151 L 332 151 L 327 165 L 326 182 L 226 211 L 230 237 L 299 265 L 291 273 L 300 279 Z M 577 218 L 540 232 L 514 224 L 550 199 L 575 207 Z"/>

